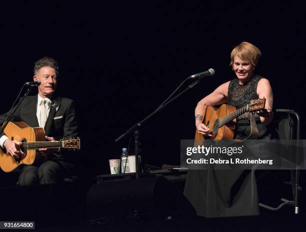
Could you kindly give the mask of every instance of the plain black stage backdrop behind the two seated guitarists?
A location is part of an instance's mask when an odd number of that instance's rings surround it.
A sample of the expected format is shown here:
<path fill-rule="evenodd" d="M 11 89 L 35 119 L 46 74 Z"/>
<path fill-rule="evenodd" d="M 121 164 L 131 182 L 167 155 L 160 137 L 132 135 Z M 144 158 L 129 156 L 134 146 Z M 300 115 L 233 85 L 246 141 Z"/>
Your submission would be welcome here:
<path fill-rule="evenodd" d="M 295 109 L 305 120 L 301 3 L 14 1 L 3 4 L 0 15 L 1 112 L 32 79 L 35 60 L 57 59 L 58 92 L 76 101 L 82 174 L 108 173 L 108 159 L 119 158 L 128 143 L 128 137 L 115 143 L 116 137 L 151 113 L 185 77 L 214 68 L 214 76 L 141 126 L 143 161 L 179 164 L 180 139 L 194 135 L 197 101 L 235 77 L 229 54 L 244 40 L 262 51 L 256 71 L 270 80 L 274 109 Z"/>

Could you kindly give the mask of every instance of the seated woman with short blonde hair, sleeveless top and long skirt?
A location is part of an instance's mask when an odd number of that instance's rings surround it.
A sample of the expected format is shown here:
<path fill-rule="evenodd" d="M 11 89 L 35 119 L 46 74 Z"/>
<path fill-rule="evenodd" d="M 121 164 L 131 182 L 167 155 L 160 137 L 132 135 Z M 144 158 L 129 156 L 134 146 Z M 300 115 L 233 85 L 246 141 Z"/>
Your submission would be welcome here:
<path fill-rule="evenodd" d="M 197 103 L 194 114 L 198 133 L 215 136 L 202 123 L 207 106 L 227 103 L 238 109 L 253 99 L 265 97 L 265 108 L 252 116 L 252 124 L 257 127 L 257 139 L 271 138 L 266 125 L 273 117 L 272 89 L 266 78 L 254 73 L 260 55 L 260 50 L 249 42 L 241 42 L 232 49 L 230 65 L 236 78 L 221 84 Z M 246 111 L 236 118 L 234 138 L 244 138 L 250 134 L 250 115 Z M 212 165 L 208 165 L 208 170 L 188 171 L 184 194 L 199 216 L 257 215 L 256 189 L 253 170 L 214 170 Z"/>

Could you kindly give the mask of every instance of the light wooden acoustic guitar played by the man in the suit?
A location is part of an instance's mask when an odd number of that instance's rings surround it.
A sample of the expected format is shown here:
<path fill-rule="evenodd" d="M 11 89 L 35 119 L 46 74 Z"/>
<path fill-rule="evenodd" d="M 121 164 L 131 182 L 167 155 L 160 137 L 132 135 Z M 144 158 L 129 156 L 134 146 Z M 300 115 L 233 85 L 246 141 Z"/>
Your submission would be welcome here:
<path fill-rule="evenodd" d="M 12 157 L 6 150 L 0 148 L 0 167 L 5 172 L 14 170 L 20 164 L 30 165 L 43 162 L 46 156 L 40 155 L 39 148 L 69 148 L 79 149 L 80 139 L 60 139 L 59 141 L 44 141 L 44 129 L 30 127 L 22 121 L 10 121 L 4 128 L 4 133 L 11 140 L 20 141 L 21 155 Z"/>

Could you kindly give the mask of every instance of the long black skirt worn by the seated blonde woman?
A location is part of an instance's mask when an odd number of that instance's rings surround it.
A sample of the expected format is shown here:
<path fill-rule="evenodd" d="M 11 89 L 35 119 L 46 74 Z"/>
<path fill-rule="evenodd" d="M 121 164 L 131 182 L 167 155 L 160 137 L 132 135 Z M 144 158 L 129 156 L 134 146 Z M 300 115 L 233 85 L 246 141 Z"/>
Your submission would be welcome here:
<path fill-rule="evenodd" d="M 235 138 L 249 134 L 249 122 L 240 121 Z M 256 121 L 257 122 L 257 121 Z M 267 128 L 257 123 L 258 138 L 270 139 Z M 197 215 L 205 217 L 258 215 L 258 194 L 255 170 L 189 170 L 184 195 Z"/>

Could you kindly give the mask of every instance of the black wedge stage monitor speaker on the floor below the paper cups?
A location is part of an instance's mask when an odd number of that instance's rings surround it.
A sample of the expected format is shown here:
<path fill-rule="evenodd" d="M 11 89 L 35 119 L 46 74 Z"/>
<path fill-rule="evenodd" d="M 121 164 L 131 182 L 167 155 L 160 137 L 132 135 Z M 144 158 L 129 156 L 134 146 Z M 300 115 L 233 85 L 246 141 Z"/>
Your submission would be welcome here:
<path fill-rule="evenodd" d="M 91 219 L 196 215 L 182 192 L 162 176 L 95 183 L 87 192 L 86 205 Z"/>

